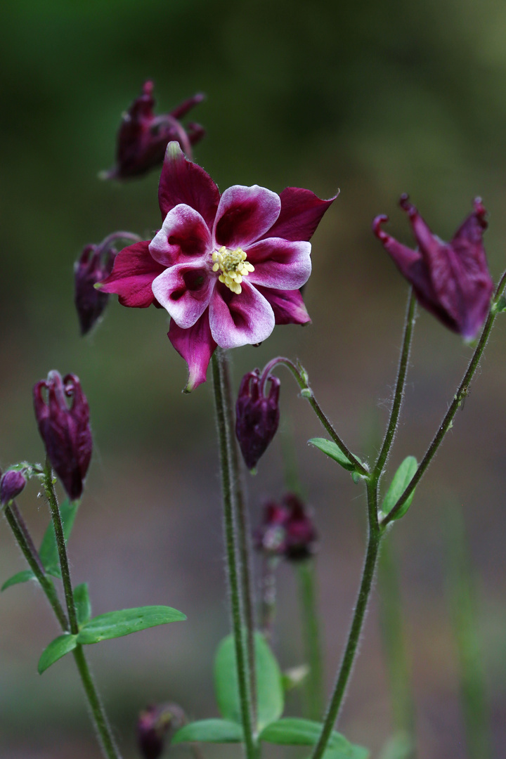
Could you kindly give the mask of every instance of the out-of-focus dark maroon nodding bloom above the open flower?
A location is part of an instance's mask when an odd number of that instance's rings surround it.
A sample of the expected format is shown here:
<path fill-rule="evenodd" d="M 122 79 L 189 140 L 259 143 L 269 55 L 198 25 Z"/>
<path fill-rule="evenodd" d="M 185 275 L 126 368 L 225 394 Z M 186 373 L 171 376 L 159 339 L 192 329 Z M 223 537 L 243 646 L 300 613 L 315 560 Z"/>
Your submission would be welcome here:
<path fill-rule="evenodd" d="M 105 179 L 130 179 L 146 174 L 162 165 L 165 149 L 171 140 L 180 143 L 185 153 L 206 134 L 200 124 L 183 128 L 181 118 L 204 99 L 202 94 L 184 100 L 167 114 L 156 116 L 154 85 L 146 81 L 142 94 L 134 100 L 123 115 L 118 131 L 116 165 L 102 176 Z"/>

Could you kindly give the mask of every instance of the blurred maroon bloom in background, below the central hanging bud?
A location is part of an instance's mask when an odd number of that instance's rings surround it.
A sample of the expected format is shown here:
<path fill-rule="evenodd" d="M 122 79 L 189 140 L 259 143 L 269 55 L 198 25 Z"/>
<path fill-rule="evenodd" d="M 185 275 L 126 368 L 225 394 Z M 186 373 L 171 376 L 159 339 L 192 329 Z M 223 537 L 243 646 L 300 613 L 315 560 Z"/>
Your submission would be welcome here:
<path fill-rule="evenodd" d="M 292 562 L 313 556 L 316 540 L 313 520 L 294 493 L 286 493 L 281 503 L 267 502 L 262 524 L 253 534 L 256 550 L 266 556 L 280 556 Z"/>

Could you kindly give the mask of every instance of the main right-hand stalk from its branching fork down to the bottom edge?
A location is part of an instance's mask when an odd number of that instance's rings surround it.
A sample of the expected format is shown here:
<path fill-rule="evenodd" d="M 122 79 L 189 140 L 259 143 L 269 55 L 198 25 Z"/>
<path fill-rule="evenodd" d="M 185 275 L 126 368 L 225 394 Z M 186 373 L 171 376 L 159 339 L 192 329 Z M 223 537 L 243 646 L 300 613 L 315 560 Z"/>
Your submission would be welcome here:
<path fill-rule="evenodd" d="M 367 483 L 367 507 L 369 513 L 369 540 L 367 544 L 366 561 L 363 566 L 362 580 L 355 606 L 354 616 L 351 622 L 351 628 L 344 649 L 344 655 L 341 660 L 338 677 L 335 682 L 332 698 L 328 705 L 328 710 L 323 723 L 322 734 L 319 737 L 311 759 L 321 759 L 328 745 L 328 739 L 332 733 L 335 720 L 338 717 L 344 693 L 346 692 L 347 683 L 350 679 L 353 668 L 355 655 L 357 653 L 360 635 L 362 632 L 363 621 L 366 616 L 366 609 L 369 603 L 369 597 L 372 590 L 372 582 L 376 573 L 376 562 L 379 554 L 379 544 L 382 540 L 382 533 L 378 524 L 378 506 L 377 506 L 377 484 Z"/>

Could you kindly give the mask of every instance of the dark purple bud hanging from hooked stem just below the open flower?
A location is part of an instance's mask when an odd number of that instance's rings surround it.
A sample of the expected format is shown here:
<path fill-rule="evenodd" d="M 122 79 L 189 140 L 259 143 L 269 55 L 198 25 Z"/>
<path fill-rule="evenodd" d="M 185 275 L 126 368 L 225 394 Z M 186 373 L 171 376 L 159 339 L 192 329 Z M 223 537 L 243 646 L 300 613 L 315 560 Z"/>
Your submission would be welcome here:
<path fill-rule="evenodd" d="M 279 424 L 278 377 L 269 376 L 269 395 L 264 395 L 258 369 L 244 375 L 235 406 L 235 433 L 248 469 L 254 469 Z"/>

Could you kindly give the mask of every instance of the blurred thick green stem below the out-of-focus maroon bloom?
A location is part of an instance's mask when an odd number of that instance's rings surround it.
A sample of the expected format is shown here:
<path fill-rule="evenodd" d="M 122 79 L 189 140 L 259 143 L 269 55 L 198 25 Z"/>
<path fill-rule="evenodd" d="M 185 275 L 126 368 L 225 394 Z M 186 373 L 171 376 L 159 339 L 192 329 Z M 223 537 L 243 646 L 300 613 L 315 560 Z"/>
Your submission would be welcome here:
<path fill-rule="evenodd" d="M 322 644 L 319 630 L 319 613 L 316 602 L 316 572 L 314 559 L 306 559 L 297 565 L 300 607 L 306 662 L 310 672 L 306 681 L 307 716 L 321 720 L 323 714 L 323 666 Z"/>

